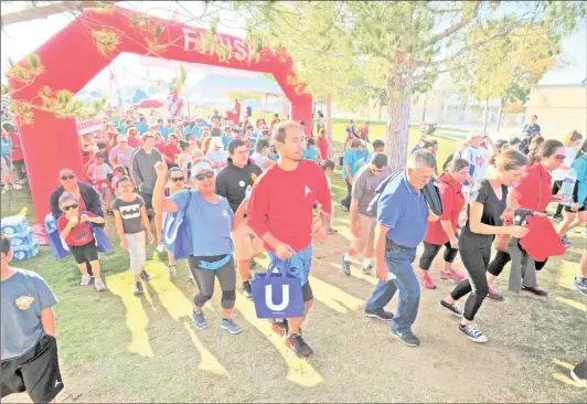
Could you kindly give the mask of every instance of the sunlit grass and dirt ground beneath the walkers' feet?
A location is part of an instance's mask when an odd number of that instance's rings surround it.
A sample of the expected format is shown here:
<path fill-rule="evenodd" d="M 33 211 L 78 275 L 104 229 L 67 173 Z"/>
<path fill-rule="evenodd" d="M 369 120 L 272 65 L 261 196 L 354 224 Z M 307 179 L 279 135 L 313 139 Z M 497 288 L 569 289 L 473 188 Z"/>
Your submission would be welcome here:
<path fill-rule="evenodd" d="M 374 126 L 373 138 L 383 135 Z M 337 124 L 335 140 L 344 137 Z M 410 131 L 410 145 L 416 131 Z M 451 140 L 440 140 L 448 153 Z M 439 160 L 444 161 L 444 156 Z M 345 187 L 333 174 L 333 199 Z M 28 208 L 28 191 L 1 200 L 1 216 Z M 220 296 L 204 309 L 210 326 L 198 331 L 191 320 L 196 288 L 186 265 L 171 281 L 164 261 L 150 246 L 147 270 L 152 280 L 143 297 L 132 296 L 126 253 L 118 247 L 114 224 L 106 231 L 115 249 L 102 255 L 108 290 L 81 288 L 73 259 L 54 259 L 49 248 L 30 261 L 13 263 L 43 276 L 58 305 L 57 340 L 65 390 L 60 402 L 583 402 L 585 389 L 568 378 L 572 364 L 586 355 L 586 299 L 572 289 L 585 238 L 573 236 L 574 247 L 548 262 L 540 274 L 547 299 L 506 291 L 509 269 L 497 288 L 505 301 L 487 301 L 478 316 L 490 342 L 474 344 L 458 331 L 458 319 L 438 300 L 451 285 L 423 291 L 414 331 L 421 347 L 412 349 L 391 340 L 389 325 L 362 315 L 376 280 L 353 266 L 352 276 L 340 270 L 349 245 L 348 214 L 337 210 L 339 234 L 316 245 L 312 269 L 314 305 L 303 327 L 316 351 L 311 362 L 297 359 L 258 320 L 253 302 L 237 291 L 235 318 L 244 331 L 220 330 Z M 267 265 L 267 259 L 260 259 Z M 439 262 L 431 269 L 438 279 Z M 457 261 L 460 267 L 460 261 Z M 396 299 L 389 305 L 396 309 Z M 583 398 L 581 398 L 583 397 Z M 23 395 L 3 402 L 29 402 Z"/>

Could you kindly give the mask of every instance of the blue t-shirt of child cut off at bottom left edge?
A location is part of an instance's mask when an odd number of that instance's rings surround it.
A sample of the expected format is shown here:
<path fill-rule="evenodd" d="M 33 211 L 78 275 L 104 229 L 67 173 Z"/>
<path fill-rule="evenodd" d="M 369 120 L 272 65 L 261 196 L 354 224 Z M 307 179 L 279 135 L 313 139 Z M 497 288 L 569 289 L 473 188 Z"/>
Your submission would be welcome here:
<path fill-rule="evenodd" d="M 53 307 L 57 299 L 45 280 L 33 272 L 14 269 L 1 284 L 2 360 L 18 358 L 45 336 L 41 311 Z"/>

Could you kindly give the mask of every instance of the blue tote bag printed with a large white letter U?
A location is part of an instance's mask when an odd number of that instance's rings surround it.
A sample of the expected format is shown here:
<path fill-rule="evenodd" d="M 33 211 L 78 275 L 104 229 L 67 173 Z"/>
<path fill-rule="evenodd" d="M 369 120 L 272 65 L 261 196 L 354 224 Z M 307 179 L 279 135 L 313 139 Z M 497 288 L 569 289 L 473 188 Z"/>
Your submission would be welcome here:
<path fill-rule="evenodd" d="M 274 273 L 277 268 L 278 273 Z M 256 274 L 250 283 L 257 318 L 303 317 L 300 280 L 289 274 L 290 261 L 279 268 L 271 263 L 265 274 Z"/>

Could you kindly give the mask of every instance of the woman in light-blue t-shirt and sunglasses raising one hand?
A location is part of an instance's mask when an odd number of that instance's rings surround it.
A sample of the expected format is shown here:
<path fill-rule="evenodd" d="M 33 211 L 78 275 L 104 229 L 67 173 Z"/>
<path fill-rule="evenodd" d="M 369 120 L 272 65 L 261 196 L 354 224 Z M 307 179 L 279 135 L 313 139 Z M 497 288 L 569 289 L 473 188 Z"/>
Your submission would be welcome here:
<path fill-rule="evenodd" d="M 214 193 L 216 174 L 206 162 L 200 162 L 192 168 L 194 190 L 180 191 L 166 198 L 168 167 L 163 162 L 158 162 L 154 168 L 157 170 L 153 191 L 156 212 L 162 214 L 182 211 L 191 235 L 192 251 L 188 264 L 200 289 L 193 300 L 194 327 L 199 330 L 207 327 L 202 308 L 212 298 L 214 280 L 218 278 L 222 289 L 221 329 L 232 334 L 239 333 L 241 327 L 232 319 L 236 300 L 236 269 L 231 231 L 243 222 L 248 199 L 245 199 L 236 213 L 233 213 L 228 201 Z"/>

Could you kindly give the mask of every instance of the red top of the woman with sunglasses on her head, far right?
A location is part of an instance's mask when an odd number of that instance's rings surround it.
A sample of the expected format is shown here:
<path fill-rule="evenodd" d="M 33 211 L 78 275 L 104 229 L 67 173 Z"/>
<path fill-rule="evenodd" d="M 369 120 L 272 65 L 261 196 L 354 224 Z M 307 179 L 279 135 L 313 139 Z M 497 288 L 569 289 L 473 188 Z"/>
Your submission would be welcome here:
<path fill-rule="evenodd" d="M 548 202 L 551 202 L 553 178 L 540 162 L 532 164 L 524 176 L 517 181 L 513 189 L 522 198 L 517 200 L 520 208 L 530 209 L 535 212 L 544 212 Z M 540 196 L 540 201 L 538 201 Z"/>

